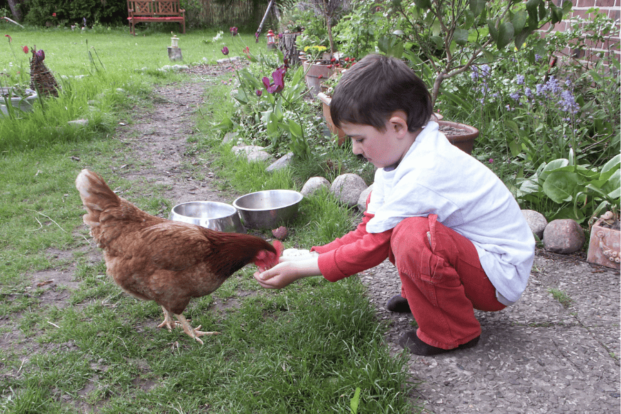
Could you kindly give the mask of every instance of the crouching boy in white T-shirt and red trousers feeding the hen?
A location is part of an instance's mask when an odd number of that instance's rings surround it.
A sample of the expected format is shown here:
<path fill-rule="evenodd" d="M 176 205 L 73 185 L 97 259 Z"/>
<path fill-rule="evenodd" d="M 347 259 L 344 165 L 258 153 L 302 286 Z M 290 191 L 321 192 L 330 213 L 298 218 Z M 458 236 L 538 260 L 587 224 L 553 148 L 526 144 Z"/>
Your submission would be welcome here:
<path fill-rule="evenodd" d="M 378 168 L 364 219 L 341 239 L 255 273 L 259 284 L 283 288 L 313 275 L 336 282 L 388 257 L 402 293 L 386 308 L 411 311 L 418 324 L 400 345 L 416 355 L 475 346 L 473 309 L 500 311 L 520 298 L 535 240 L 502 181 L 452 146 L 431 115 L 426 86 L 402 61 L 368 55 L 347 70 L 331 116 L 353 152 Z"/>

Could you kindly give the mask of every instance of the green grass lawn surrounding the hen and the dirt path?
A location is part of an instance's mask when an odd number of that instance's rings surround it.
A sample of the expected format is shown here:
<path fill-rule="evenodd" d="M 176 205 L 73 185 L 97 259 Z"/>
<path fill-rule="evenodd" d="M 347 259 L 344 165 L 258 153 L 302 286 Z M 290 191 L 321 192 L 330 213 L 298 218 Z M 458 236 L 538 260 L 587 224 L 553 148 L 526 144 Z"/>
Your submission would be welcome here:
<path fill-rule="evenodd" d="M 253 268 L 245 268 L 186 310 L 193 326 L 221 335 L 206 337 L 201 346 L 179 329 L 156 328 L 163 318 L 159 306 L 126 295 L 110 282 L 103 262 L 90 262 L 80 250 L 90 237 L 81 226 L 74 181 L 83 166 L 110 171 L 133 157 L 115 139 L 115 126 L 131 124 L 133 110 L 150 107 L 153 83 L 190 81 L 158 70 L 170 64 L 170 34 L 10 34 L 16 55 L 25 44 L 46 50 L 46 64 L 59 81 L 62 75 L 88 76 L 63 79 L 61 97 L 31 115 L 0 119 L 0 315 L 6 316 L 0 334 L 9 338 L 0 348 L 0 412 L 349 413 L 357 388 L 358 413 L 419 409 L 407 398 L 406 356 L 393 357 L 384 346 L 384 326 L 355 278 L 336 284 L 308 278 L 270 291 L 259 290 Z M 221 58 L 219 44 L 203 42 L 213 35 L 179 36 L 184 63 Z M 10 56 L 0 54 L 0 70 Z M 228 88 L 213 84 L 196 114 L 192 153 L 217 171 L 224 192 L 299 188 L 302 176 L 317 172 L 309 161 L 266 175 L 261 164 L 231 157 L 206 121 L 230 110 Z M 82 117 L 88 126 L 66 124 Z M 326 157 L 339 159 L 336 170 L 358 168 L 339 150 Z M 124 170 L 138 171 L 147 162 L 135 159 Z M 146 180 L 112 174 L 108 182 L 149 213 L 172 206 L 160 195 L 164 188 Z M 318 193 L 302 203 L 286 244 L 323 244 L 355 221 L 353 212 Z M 52 250 L 72 255 L 59 259 Z M 28 288 L 31 275 L 59 268 L 75 269 L 79 288 L 57 306 L 44 304 L 46 290 Z"/>

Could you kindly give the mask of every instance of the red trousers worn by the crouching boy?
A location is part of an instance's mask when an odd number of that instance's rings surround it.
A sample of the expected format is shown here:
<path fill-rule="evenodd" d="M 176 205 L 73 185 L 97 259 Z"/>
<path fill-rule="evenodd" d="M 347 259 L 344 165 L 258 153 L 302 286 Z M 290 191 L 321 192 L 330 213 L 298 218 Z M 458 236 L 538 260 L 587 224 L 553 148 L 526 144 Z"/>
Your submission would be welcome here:
<path fill-rule="evenodd" d="M 504 309 L 469 239 L 437 222 L 436 215 L 410 217 L 393 229 L 388 258 L 402 282 L 418 324 L 431 346 L 453 349 L 481 335 L 474 315 Z"/>

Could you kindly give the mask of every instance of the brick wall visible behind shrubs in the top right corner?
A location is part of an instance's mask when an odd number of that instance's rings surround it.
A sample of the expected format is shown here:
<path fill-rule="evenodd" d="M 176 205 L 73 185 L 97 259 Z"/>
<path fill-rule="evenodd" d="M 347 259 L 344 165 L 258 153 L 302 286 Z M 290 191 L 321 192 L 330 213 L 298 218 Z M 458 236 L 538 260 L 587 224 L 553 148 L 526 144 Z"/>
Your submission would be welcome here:
<path fill-rule="evenodd" d="M 564 17 L 563 21 L 560 23 L 556 23 L 554 30 L 564 31 L 566 28 L 571 26 L 571 19 L 573 17 L 582 17 L 583 19 L 589 19 L 589 8 L 599 8 L 600 12 L 606 13 L 607 16 L 616 21 L 617 28 L 619 28 L 619 24 L 621 21 L 621 0 L 572 0 L 573 10 L 570 16 Z M 555 1 L 557 3 L 557 1 Z M 561 1 L 558 1 L 558 6 L 560 6 Z M 549 28 L 549 25 L 546 25 L 542 28 L 542 31 L 545 31 Z M 620 39 L 618 32 L 614 37 L 604 45 L 591 45 L 593 47 L 593 51 L 598 52 L 602 50 L 613 50 L 614 56 L 617 60 L 621 60 L 621 49 L 620 49 Z M 584 50 L 570 50 L 566 48 L 563 50 L 566 55 L 570 55 L 573 57 L 583 58 Z M 588 57 L 586 57 L 588 59 Z"/>

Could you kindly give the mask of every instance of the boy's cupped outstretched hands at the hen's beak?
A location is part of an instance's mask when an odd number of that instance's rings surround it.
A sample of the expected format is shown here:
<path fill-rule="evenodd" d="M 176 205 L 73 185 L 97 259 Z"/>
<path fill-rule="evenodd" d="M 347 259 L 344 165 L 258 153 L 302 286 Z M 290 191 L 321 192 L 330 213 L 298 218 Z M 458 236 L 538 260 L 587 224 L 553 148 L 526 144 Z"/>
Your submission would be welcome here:
<path fill-rule="evenodd" d="M 321 275 L 317 257 L 319 255 L 304 256 L 305 259 L 297 259 L 297 257 L 281 257 L 280 263 L 264 271 L 256 272 L 255 279 L 264 288 L 281 289 L 295 282 L 297 279 L 308 276 Z M 288 260 L 293 259 L 293 260 Z"/>

